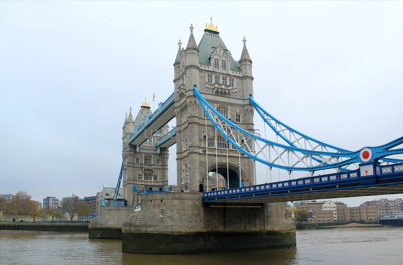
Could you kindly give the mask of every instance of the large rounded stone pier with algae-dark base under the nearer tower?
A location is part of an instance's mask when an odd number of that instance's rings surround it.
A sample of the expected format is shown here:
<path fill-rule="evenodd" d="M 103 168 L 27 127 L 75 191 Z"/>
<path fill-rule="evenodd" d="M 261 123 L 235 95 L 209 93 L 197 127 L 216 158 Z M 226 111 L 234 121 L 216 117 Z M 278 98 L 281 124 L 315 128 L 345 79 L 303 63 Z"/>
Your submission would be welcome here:
<path fill-rule="evenodd" d="M 295 246 L 285 203 L 202 203 L 202 193 L 148 193 L 122 225 L 127 253 L 206 253 Z"/>

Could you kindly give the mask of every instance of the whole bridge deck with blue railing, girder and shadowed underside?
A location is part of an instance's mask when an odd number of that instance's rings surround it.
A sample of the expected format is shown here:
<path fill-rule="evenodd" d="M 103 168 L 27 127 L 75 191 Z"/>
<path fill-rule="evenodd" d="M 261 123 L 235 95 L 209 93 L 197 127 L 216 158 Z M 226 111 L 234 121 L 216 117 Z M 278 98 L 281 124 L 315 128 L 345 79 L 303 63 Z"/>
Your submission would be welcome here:
<path fill-rule="evenodd" d="M 360 165 L 361 166 L 361 165 Z M 204 203 L 268 203 L 403 193 L 403 163 L 203 193 Z"/>

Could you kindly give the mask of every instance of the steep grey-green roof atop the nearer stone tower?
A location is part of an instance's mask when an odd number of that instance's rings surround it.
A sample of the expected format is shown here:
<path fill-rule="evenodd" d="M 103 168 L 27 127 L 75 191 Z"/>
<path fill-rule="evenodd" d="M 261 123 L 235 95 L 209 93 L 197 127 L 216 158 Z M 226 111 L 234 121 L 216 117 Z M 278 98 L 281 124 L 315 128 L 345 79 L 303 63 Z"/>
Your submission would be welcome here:
<path fill-rule="evenodd" d="M 232 55 L 228 52 L 224 42 L 218 35 L 218 32 L 212 33 L 211 31 L 205 30 L 202 39 L 200 40 L 197 48 L 199 49 L 199 62 L 203 64 L 210 64 L 211 48 L 217 48 L 219 45 L 227 51 L 229 64 L 231 69 L 239 70 L 239 63 L 232 58 Z"/>

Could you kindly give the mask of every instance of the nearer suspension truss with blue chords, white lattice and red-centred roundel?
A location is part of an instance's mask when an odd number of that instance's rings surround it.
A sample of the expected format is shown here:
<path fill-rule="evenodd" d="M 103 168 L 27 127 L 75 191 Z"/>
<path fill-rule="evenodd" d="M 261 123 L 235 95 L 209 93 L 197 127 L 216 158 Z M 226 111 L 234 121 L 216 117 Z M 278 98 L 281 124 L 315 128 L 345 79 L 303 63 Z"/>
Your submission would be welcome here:
<path fill-rule="evenodd" d="M 337 147 L 332 147 L 332 149 L 336 150 L 335 152 L 317 151 L 315 149 L 310 150 L 297 147 L 293 143 L 291 143 L 291 145 L 283 145 L 274 141 L 269 141 L 231 122 L 231 120 L 224 117 L 208 103 L 208 101 L 197 90 L 196 86 L 194 86 L 193 90 L 197 100 L 199 101 L 209 120 L 212 122 L 213 126 L 224 138 L 226 138 L 229 143 L 231 143 L 231 145 L 255 161 L 258 161 L 269 167 L 287 170 L 289 174 L 291 174 L 293 170 L 310 171 L 311 175 L 313 175 L 314 171 L 316 170 L 336 168 L 337 171 L 339 171 L 342 166 L 348 166 L 353 163 L 374 162 L 388 155 L 403 153 L 403 149 L 390 150 L 391 148 L 402 144 L 403 137 L 400 137 L 399 139 L 396 139 L 385 145 L 378 147 L 364 147 L 358 151 L 348 151 L 345 149 L 337 149 Z M 317 140 L 315 141 L 317 143 L 319 142 Z M 290 142 L 287 141 L 287 143 Z M 254 149 L 255 145 L 258 147 L 257 152 Z M 327 146 L 330 147 L 330 145 Z M 276 157 L 273 159 L 271 157 L 267 157 L 263 152 L 265 148 L 269 148 L 270 151 L 274 151 L 276 153 Z M 280 151 L 278 151 L 278 149 L 280 149 Z M 269 154 L 270 153 L 271 152 L 269 152 Z M 264 159 L 258 157 L 258 154 L 262 154 Z M 295 163 L 292 162 L 292 157 L 290 160 L 290 155 L 297 157 L 297 161 Z M 283 159 L 282 156 L 286 156 L 288 159 Z M 278 161 L 278 164 L 275 164 L 276 161 Z M 280 164 L 280 161 L 282 164 Z M 316 161 L 318 164 L 314 165 L 313 161 Z"/>

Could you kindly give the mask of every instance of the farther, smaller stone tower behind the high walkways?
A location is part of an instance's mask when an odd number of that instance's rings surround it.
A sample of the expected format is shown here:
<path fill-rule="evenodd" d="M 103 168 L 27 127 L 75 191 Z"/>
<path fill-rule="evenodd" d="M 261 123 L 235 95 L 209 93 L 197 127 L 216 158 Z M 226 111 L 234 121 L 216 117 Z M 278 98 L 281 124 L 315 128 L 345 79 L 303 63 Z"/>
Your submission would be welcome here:
<path fill-rule="evenodd" d="M 129 145 L 130 135 L 135 132 L 135 128 L 140 127 L 152 114 L 147 99 L 141 104 L 134 120 L 131 110 L 130 107 L 129 117 L 126 113 L 123 124 L 123 198 L 127 200 L 127 205 L 137 205 L 140 193 L 146 186 L 163 186 L 168 180 L 168 148 L 156 147 L 157 140 L 168 133 L 168 125 L 150 135 L 141 145 Z"/>

